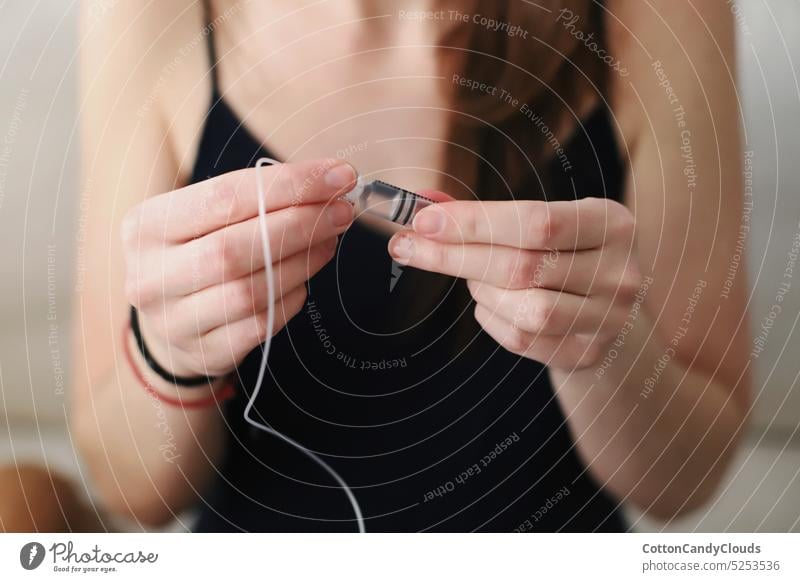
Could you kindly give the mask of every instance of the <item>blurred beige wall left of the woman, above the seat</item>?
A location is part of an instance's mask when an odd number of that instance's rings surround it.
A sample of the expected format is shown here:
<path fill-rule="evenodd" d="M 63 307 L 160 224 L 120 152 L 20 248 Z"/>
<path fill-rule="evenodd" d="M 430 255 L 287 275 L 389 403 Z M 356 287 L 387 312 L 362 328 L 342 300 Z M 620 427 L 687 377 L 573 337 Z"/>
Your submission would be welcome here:
<path fill-rule="evenodd" d="M 63 418 L 78 162 L 72 4 L 0 7 L 0 367 L 15 420 Z"/>

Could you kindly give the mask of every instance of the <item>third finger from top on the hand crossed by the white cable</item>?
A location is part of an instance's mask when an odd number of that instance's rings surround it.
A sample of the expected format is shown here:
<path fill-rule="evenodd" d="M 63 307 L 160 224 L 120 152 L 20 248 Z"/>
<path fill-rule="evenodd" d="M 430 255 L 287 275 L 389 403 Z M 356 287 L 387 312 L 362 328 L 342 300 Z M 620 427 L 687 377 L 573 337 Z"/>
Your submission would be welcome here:
<path fill-rule="evenodd" d="M 318 273 L 335 251 L 336 239 L 332 238 L 277 263 L 274 270 L 276 300 Z M 169 323 L 170 336 L 179 341 L 247 319 L 267 307 L 267 282 L 262 269 L 178 299 L 165 310 L 163 323 Z"/>

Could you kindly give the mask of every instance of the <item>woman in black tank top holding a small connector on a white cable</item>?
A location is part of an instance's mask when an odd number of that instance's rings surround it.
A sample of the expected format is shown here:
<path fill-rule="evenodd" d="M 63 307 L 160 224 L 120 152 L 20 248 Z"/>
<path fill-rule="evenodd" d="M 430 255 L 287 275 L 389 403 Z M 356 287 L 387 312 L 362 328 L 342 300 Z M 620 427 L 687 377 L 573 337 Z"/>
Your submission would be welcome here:
<path fill-rule="evenodd" d="M 356 530 L 243 420 L 268 333 L 255 416 L 368 531 L 621 531 L 623 503 L 709 498 L 749 406 L 725 2 L 131 4 L 83 28 L 73 426 L 108 507 Z M 287 162 L 274 305 L 262 156 Z M 340 200 L 355 168 L 440 204 L 387 253 Z"/>

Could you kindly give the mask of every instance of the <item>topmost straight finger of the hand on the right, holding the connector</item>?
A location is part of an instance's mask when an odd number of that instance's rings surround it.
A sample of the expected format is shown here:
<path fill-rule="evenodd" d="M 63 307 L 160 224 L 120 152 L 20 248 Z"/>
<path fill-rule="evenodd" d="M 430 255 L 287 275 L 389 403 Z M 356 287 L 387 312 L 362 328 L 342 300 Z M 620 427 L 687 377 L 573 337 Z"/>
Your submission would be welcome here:
<path fill-rule="evenodd" d="M 601 246 L 623 223 L 627 225 L 629 214 L 621 205 L 604 198 L 455 201 L 421 210 L 414 218 L 413 228 L 440 242 L 577 250 Z"/>

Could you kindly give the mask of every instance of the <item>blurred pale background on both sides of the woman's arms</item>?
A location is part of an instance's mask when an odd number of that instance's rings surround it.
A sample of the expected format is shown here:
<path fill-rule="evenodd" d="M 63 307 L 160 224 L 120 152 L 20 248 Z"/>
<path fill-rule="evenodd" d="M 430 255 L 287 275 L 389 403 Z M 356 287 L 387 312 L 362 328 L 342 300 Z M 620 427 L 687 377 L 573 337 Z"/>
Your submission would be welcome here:
<path fill-rule="evenodd" d="M 757 334 L 800 236 L 800 2 L 729 4 L 752 153 Z M 66 430 L 71 294 L 83 284 L 76 13 L 74 0 L 0 0 L 0 465 L 46 465 L 86 491 Z M 667 526 L 631 513 L 635 529 L 800 531 L 798 317 L 794 281 L 756 360 L 752 424 L 718 498 Z"/>

